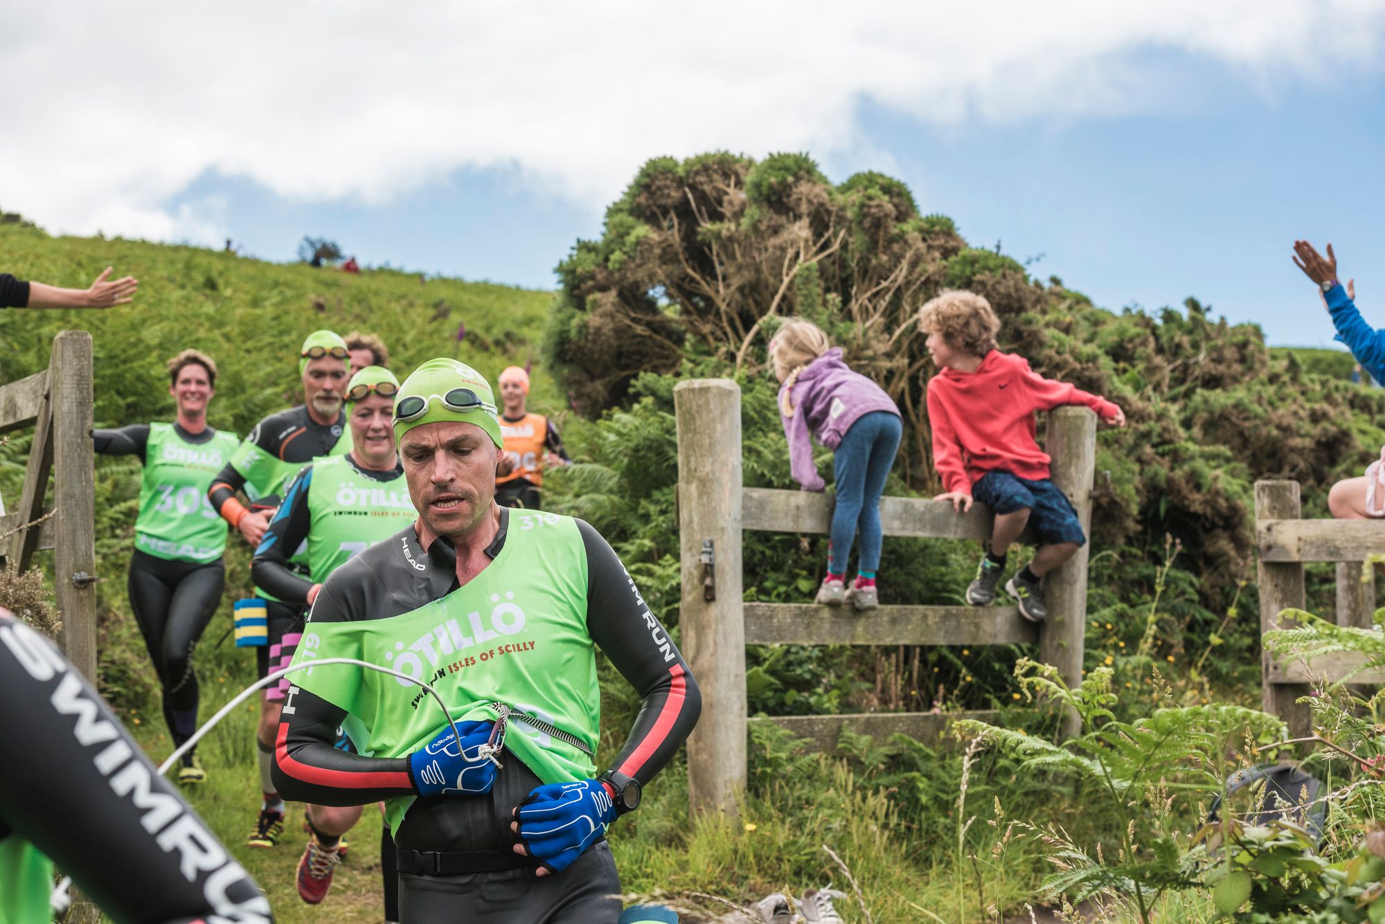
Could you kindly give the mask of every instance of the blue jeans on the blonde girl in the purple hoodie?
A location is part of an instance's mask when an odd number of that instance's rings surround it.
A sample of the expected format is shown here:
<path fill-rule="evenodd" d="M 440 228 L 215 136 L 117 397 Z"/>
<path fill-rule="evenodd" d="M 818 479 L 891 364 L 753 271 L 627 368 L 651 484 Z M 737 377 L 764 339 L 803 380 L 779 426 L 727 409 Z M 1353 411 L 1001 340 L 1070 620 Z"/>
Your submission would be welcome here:
<path fill-rule="evenodd" d="M 827 570 L 846 574 L 846 557 L 852 539 L 860 528 L 860 571 L 879 570 L 879 495 L 885 491 L 885 477 L 895 465 L 899 438 L 903 436 L 899 416 L 889 411 L 871 411 L 861 416 L 842 437 L 832 456 L 832 477 L 837 481 L 837 508 L 832 510 L 832 545 L 827 556 Z"/>

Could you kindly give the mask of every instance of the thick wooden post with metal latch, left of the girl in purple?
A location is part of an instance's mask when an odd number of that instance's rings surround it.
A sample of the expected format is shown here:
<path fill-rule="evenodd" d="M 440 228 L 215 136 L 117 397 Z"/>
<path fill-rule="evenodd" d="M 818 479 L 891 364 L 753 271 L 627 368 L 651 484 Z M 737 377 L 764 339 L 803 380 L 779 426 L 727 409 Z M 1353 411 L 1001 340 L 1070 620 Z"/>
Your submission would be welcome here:
<path fill-rule="evenodd" d="M 745 788 L 748 718 L 741 611 L 741 389 L 730 379 L 690 379 L 673 389 L 673 408 L 683 560 L 679 625 L 683 654 L 702 690 L 702 718 L 688 737 L 688 800 L 694 812 L 734 815 L 735 795 Z M 711 584 L 705 549 L 713 557 Z"/>

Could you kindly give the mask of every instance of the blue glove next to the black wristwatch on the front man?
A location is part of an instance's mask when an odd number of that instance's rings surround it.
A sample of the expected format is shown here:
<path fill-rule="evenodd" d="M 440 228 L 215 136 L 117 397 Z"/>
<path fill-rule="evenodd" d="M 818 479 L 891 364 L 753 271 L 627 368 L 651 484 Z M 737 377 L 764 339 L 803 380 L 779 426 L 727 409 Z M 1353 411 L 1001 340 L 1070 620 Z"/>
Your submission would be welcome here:
<path fill-rule="evenodd" d="M 615 804 L 600 780 L 548 783 L 519 804 L 519 841 L 550 873 L 560 873 L 605 834 Z"/>

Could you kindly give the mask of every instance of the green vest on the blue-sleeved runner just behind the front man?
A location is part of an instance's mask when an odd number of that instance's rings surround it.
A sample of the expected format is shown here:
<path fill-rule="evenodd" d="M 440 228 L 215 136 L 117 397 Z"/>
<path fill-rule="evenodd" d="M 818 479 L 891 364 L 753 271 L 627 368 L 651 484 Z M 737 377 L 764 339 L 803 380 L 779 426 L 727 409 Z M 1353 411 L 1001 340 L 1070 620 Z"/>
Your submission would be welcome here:
<path fill-rule="evenodd" d="M 314 584 L 418 517 L 403 474 L 377 481 L 345 455 L 313 459 L 307 510 L 307 571 Z"/>

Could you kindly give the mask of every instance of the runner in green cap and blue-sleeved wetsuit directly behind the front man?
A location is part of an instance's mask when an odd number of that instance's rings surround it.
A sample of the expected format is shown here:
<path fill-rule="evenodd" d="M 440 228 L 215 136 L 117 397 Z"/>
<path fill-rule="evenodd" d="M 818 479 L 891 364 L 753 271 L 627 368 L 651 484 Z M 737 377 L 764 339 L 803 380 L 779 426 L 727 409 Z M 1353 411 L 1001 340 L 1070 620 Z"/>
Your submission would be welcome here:
<path fill-rule="evenodd" d="M 346 386 L 346 422 L 352 451 L 313 459 L 284 492 L 265 541 L 255 551 L 255 584 L 288 603 L 309 604 L 332 571 L 350 556 L 414 521 L 404 469 L 395 452 L 392 414 L 399 379 L 378 365 L 366 367 Z M 288 556 L 307 544 L 307 578 L 288 567 Z M 284 645 L 288 667 L 296 645 Z M 288 678 L 280 681 L 288 689 Z M 307 806 L 310 834 L 298 863 L 298 894 L 309 905 L 327 896 L 343 835 L 360 820 L 361 806 Z"/>

